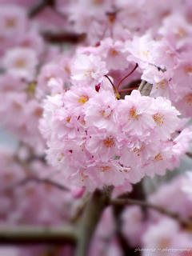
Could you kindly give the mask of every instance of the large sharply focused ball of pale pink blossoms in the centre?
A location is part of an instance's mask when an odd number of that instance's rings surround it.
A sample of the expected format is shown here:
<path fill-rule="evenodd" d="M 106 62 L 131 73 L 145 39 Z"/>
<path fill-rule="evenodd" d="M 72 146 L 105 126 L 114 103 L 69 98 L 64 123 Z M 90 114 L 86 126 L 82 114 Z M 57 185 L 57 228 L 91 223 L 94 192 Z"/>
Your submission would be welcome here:
<path fill-rule="evenodd" d="M 50 80 L 57 94 L 47 97 L 41 122 L 48 161 L 87 190 L 139 182 L 178 166 L 192 136 L 189 129 L 171 136 L 181 121 L 170 100 L 138 90 L 118 100 L 104 85 L 65 90 L 61 79 Z"/>

